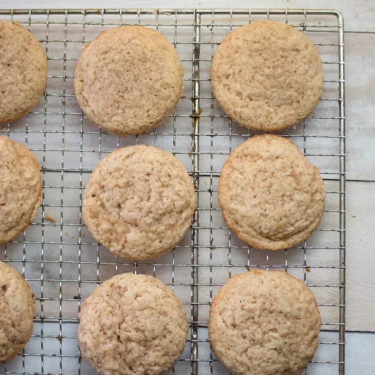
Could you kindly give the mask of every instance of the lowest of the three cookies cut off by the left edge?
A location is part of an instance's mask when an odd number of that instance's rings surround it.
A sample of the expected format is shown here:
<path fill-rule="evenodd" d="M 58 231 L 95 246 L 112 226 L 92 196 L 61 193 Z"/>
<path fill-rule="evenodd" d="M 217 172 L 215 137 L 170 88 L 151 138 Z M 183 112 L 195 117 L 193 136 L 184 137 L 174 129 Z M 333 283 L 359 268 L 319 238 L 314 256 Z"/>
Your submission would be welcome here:
<path fill-rule="evenodd" d="M 30 340 L 34 294 L 20 272 L 0 262 L 0 363 L 13 359 Z"/>

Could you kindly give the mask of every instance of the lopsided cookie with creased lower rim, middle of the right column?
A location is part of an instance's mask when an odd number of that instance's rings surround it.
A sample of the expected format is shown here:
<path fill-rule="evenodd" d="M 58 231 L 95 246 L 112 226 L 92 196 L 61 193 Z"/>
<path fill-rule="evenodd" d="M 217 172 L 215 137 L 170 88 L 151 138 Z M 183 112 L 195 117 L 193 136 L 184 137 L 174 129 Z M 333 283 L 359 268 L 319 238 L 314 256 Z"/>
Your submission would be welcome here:
<path fill-rule="evenodd" d="M 263 134 L 235 148 L 221 170 L 219 204 L 230 229 L 262 250 L 292 247 L 319 227 L 319 171 L 287 138 Z"/>

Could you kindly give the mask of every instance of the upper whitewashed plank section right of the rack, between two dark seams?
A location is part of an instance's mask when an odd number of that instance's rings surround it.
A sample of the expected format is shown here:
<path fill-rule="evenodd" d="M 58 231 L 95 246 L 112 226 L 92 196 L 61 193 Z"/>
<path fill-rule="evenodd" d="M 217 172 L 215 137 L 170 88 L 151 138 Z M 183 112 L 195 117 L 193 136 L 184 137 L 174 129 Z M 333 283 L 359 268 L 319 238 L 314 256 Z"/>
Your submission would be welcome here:
<path fill-rule="evenodd" d="M 347 33 L 345 52 L 347 178 L 375 181 L 375 34 Z"/>

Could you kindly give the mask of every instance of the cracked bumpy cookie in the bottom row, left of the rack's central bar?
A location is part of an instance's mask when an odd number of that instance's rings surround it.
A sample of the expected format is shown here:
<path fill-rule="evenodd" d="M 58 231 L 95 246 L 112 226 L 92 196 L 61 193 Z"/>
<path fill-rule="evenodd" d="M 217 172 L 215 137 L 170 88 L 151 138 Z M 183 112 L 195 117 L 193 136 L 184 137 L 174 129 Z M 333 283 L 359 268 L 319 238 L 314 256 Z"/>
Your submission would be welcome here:
<path fill-rule="evenodd" d="M 102 375 L 164 374 L 184 351 L 187 336 L 181 302 L 152 276 L 114 276 L 81 308 L 78 343 Z"/>

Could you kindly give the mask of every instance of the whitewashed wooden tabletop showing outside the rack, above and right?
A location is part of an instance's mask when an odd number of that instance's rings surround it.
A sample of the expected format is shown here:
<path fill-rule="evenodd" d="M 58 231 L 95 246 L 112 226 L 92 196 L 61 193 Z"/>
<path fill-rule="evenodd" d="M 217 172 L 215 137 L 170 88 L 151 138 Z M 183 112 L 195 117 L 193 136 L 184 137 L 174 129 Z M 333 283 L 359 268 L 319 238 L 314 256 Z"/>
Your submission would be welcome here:
<path fill-rule="evenodd" d="M 125 5 L 126 8 L 324 8 L 343 13 L 347 154 L 346 327 L 348 331 L 375 332 L 375 0 L 0 1 L 1 8 L 118 8 Z M 347 374 L 373 374 L 375 334 L 348 334 L 347 340 Z"/>

